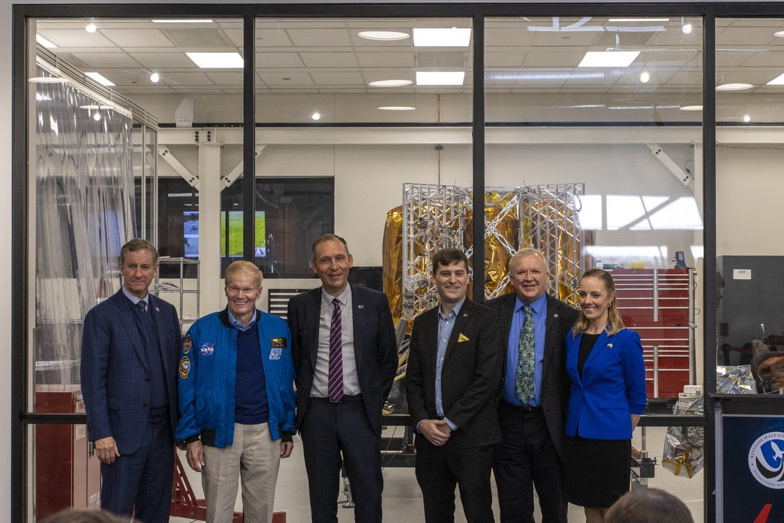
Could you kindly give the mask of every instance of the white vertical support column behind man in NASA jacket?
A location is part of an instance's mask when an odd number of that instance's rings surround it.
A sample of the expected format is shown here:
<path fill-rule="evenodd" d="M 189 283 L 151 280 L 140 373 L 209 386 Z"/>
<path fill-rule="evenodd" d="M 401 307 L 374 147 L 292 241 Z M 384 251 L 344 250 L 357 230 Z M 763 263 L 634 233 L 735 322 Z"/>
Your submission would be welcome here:
<path fill-rule="evenodd" d="M 220 143 L 198 146 L 198 258 L 201 262 L 201 315 L 220 310 Z"/>

